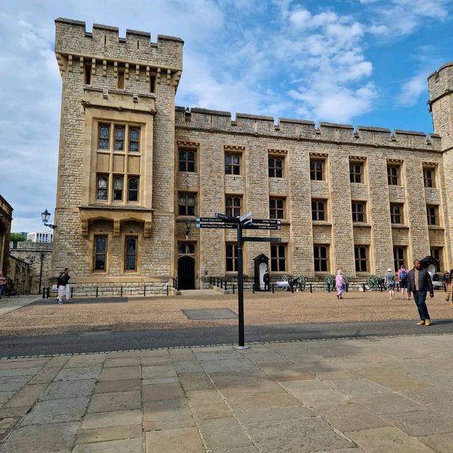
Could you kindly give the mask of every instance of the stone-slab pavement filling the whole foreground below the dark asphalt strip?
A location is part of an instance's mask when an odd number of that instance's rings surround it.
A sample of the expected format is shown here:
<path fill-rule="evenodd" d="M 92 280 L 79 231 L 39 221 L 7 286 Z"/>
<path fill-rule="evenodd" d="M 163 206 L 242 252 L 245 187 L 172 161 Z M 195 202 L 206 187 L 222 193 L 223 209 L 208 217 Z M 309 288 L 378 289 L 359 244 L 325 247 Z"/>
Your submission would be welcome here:
<path fill-rule="evenodd" d="M 452 445 L 453 334 L 0 360 L 0 453 Z"/>

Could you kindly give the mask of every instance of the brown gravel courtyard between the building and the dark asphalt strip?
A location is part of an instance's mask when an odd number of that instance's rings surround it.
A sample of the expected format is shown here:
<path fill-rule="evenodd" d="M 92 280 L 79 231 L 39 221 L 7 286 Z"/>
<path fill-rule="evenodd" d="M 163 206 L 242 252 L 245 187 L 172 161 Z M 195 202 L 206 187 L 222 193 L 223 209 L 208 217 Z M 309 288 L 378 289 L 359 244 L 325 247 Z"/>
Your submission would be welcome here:
<path fill-rule="evenodd" d="M 246 293 L 245 323 L 252 326 L 418 320 L 415 303 L 403 301 L 401 294 L 396 294 L 399 299 L 395 300 L 389 300 L 386 292 L 350 292 L 344 296 L 345 299 L 338 300 L 334 292 Z M 74 299 L 74 303 L 62 305 L 47 299 L 1 316 L 0 337 L 237 324 L 237 319 L 193 321 L 181 311 L 212 308 L 226 308 L 237 313 L 237 294 L 195 291 L 168 297 Z M 435 297 L 428 300 L 428 309 L 433 323 L 436 319 L 453 317 L 453 309 L 445 302 L 444 292 L 436 292 Z"/>

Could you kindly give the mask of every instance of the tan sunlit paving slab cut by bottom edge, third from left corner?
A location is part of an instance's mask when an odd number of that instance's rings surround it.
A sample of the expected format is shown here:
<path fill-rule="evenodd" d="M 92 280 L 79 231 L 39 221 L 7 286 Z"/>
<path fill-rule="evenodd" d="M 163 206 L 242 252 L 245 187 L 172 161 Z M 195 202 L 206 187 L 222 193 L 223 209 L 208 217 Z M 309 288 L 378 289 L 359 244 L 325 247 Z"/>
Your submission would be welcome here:
<path fill-rule="evenodd" d="M 149 431 L 146 433 L 146 452 L 205 453 L 197 428 Z"/>

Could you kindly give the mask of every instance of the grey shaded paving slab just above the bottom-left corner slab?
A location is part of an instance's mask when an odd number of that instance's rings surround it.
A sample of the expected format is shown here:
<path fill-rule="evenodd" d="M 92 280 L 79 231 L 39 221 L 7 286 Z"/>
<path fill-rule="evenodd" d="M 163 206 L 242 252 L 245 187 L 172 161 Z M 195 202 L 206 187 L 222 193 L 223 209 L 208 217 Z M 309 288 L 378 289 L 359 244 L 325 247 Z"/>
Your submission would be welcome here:
<path fill-rule="evenodd" d="M 39 401 L 25 416 L 21 426 L 79 421 L 88 401 L 88 397 Z"/>

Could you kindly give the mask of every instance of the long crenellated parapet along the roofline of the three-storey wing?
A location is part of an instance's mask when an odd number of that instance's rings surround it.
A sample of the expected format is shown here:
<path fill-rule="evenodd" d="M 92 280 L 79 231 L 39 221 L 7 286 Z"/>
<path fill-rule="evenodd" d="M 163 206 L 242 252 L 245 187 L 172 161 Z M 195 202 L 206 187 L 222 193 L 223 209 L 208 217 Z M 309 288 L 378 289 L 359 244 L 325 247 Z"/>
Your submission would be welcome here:
<path fill-rule="evenodd" d="M 276 139 L 307 139 L 320 142 L 336 142 L 354 145 L 440 151 L 440 135 L 424 132 L 395 130 L 382 127 L 341 125 L 288 118 L 247 115 L 237 113 L 236 120 L 231 113 L 202 108 L 176 107 L 176 128 L 205 130 L 229 134 L 264 136 Z"/>

